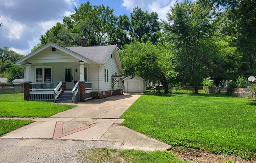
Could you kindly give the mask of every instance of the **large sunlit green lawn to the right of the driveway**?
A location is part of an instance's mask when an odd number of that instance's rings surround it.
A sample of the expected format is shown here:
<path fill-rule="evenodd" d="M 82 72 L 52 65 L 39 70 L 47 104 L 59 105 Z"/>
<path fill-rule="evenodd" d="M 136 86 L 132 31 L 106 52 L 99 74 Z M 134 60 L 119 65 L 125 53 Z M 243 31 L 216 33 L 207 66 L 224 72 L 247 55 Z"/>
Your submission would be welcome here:
<path fill-rule="evenodd" d="M 123 125 L 173 147 L 256 157 L 256 102 L 215 94 L 146 93 L 120 117 Z"/>

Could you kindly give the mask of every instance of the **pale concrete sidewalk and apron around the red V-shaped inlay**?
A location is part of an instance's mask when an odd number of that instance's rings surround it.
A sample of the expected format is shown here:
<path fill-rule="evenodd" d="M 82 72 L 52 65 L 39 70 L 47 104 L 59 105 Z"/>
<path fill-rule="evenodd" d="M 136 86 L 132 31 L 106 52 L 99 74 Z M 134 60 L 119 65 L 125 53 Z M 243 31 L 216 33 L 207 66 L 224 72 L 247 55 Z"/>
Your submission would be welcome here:
<path fill-rule="evenodd" d="M 120 149 L 139 149 L 146 151 L 165 150 L 169 145 L 149 138 L 124 126 L 120 126 L 123 119 L 97 119 L 97 118 L 34 118 L 35 122 L 20 129 L 14 130 L 1 138 L 17 139 L 57 139 L 69 140 L 97 140 L 121 142 Z M 57 131 L 56 124 L 62 122 L 62 130 Z M 83 129 L 97 123 L 97 125 Z M 76 131 L 77 129 L 81 129 Z M 68 135 L 61 134 L 70 132 Z"/>

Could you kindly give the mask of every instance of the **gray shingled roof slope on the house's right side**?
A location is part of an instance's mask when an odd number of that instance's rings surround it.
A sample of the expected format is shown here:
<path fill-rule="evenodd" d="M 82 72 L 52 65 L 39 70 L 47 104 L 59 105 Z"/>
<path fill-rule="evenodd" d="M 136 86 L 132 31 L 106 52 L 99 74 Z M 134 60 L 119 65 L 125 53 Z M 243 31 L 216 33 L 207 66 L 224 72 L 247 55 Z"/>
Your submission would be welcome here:
<path fill-rule="evenodd" d="M 75 53 L 80 54 L 88 60 L 95 63 L 106 63 L 108 57 L 113 53 L 116 48 L 115 45 L 106 46 L 86 46 L 86 47 L 65 47 Z"/>

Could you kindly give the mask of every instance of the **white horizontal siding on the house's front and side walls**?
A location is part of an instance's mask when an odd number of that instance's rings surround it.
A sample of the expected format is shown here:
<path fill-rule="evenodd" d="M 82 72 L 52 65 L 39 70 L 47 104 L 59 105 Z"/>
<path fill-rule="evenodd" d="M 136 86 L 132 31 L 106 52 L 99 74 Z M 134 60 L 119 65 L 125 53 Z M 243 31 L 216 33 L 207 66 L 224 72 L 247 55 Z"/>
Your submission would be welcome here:
<path fill-rule="evenodd" d="M 35 82 L 35 68 L 36 67 L 51 67 L 52 73 L 52 82 L 63 82 L 64 81 L 64 66 L 74 67 L 73 69 L 73 81 L 79 81 L 79 60 L 66 54 L 58 49 L 55 52 L 51 51 L 52 47 L 48 47 L 44 51 L 41 51 L 38 54 L 35 54 L 27 60 L 27 62 L 32 63 L 31 66 L 31 82 Z M 113 53 L 113 58 L 109 58 L 105 65 L 101 66 L 100 69 L 100 91 L 110 91 L 111 90 L 111 76 L 121 75 L 122 72 L 117 66 L 117 61 L 115 55 L 118 55 L 116 52 Z M 99 65 L 85 63 L 88 66 L 88 82 L 92 83 L 92 91 L 97 92 L 99 86 Z M 77 69 L 77 72 L 75 70 Z M 108 83 L 104 82 L 104 69 L 108 69 Z M 114 86 L 115 89 L 122 89 L 122 81 L 119 81 Z"/>

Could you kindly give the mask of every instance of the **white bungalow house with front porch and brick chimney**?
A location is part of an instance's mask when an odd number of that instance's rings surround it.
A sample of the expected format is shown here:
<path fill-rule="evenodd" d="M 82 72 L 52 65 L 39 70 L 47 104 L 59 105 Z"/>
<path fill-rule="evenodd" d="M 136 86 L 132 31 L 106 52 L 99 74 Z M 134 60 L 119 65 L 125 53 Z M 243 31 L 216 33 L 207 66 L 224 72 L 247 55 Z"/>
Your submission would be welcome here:
<path fill-rule="evenodd" d="M 116 45 L 62 47 L 48 43 L 18 60 L 25 66 L 24 100 L 85 101 L 122 92 Z"/>

